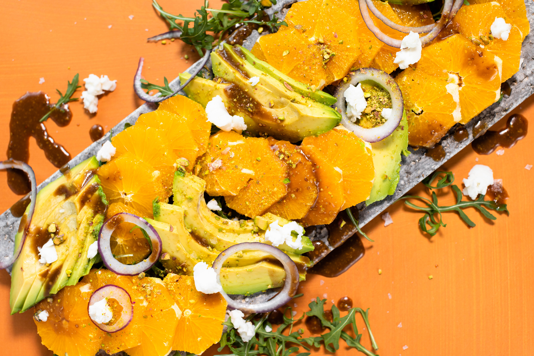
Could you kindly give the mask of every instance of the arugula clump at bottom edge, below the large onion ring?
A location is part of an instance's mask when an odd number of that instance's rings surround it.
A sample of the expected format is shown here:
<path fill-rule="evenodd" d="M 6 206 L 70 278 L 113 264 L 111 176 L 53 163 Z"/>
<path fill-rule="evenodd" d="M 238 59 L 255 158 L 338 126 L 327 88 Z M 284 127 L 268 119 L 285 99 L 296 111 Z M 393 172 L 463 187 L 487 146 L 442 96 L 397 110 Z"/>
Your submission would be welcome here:
<path fill-rule="evenodd" d="M 371 333 L 368 320 L 368 309 L 364 311 L 360 308 L 351 308 L 349 313 L 343 318 L 340 317 L 339 309 L 333 305 L 332 315 L 333 321 L 328 321 L 324 317 L 324 304 L 326 299 L 320 300 L 317 298 L 315 301 L 309 304 L 310 311 L 305 313 L 309 317 L 319 318 L 321 325 L 330 329 L 328 333 L 319 336 L 311 336 L 303 338 L 301 334 L 303 330 L 293 331 L 293 324 L 304 318 L 294 319 L 293 316 L 287 317 L 286 312 L 289 311 L 289 315 L 292 315 L 292 308 L 286 308 L 284 312 L 284 322 L 276 329 L 272 329 L 272 325 L 267 321 L 268 315 L 263 315 L 261 319 L 256 320 L 261 314 L 251 314 L 247 318 L 247 321 L 251 321 L 255 326 L 256 335 L 250 339 L 249 342 L 243 342 L 237 330 L 233 328 L 231 320 L 224 322 L 228 328 L 226 333 L 221 337 L 221 347 L 218 351 L 221 352 L 224 346 L 228 346 L 232 351 L 231 354 L 221 356 L 248 356 L 248 355 L 267 355 L 267 356 L 289 356 L 296 353 L 296 356 L 308 356 L 309 352 L 298 353 L 300 347 L 309 351 L 310 347 L 320 347 L 325 345 L 325 349 L 329 352 L 335 352 L 339 349 L 339 341 L 343 339 L 348 346 L 354 347 L 356 350 L 365 353 L 368 356 L 376 356 L 373 352 L 367 350 L 362 344 L 360 339 L 362 334 L 358 334 L 358 328 L 356 327 L 356 313 L 362 314 L 367 330 L 369 330 L 369 336 L 374 350 L 378 350 L 378 346 L 374 340 L 374 336 Z M 352 326 L 352 330 L 356 337 L 350 336 L 343 331 L 344 327 Z M 271 328 L 271 331 L 265 330 L 265 327 Z M 283 334 L 284 331 L 288 331 L 287 335 Z M 290 344 L 291 347 L 288 347 Z"/>

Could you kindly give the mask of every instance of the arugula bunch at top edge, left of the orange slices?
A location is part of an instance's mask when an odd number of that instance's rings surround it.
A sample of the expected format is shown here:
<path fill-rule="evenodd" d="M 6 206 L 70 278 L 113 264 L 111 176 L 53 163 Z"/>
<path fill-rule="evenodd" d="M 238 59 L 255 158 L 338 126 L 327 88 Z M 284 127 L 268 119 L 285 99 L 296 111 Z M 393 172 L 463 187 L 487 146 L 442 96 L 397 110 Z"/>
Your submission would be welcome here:
<path fill-rule="evenodd" d="M 276 4 L 276 1 L 272 1 Z M 275 16 L 268 21 L 262 21 L 264 7 L 258 0 L 249 0 L 242 2 L 241 0 L 229 0 L 228 3 L 223 4 L 220 10 L 210 9 L 208 1 L 204 2 L 204 6 L 194 13 L 193 17 L 185 17 L 182 14 L 173 15 L 164 11 L 156 0 L 152 0 L 152 6 L 156 9 L 160 16 L 167 21 L 171 30 L 181 31 L 180 39 L 187 44 L 193 45 L 202 57 L 202 49 L 213 49 L 215 36 L 218 36 L 216 45 L 221 44 L 228 31 L 238 23 L 256 23 L 260 26 L 268 26 L 271 30 L 285 25 L 285 21 L 278 22 Z M 211 14 L 211 17 L 209 17 Z M 177 21 L 183 21 L 180 25 Z M 192 26 L 190 26 L 192 24 Z M 207 34 L 213 33 L 213 35 Z"/>

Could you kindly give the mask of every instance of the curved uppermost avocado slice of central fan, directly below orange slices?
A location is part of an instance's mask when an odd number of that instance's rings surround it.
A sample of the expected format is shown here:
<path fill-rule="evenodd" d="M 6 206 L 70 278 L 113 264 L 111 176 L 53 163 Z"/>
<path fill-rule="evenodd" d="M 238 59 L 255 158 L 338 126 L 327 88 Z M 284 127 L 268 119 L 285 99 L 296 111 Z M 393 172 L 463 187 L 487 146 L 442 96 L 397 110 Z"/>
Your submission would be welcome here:
<path fill-rule="evenodd" d="M 188 231 L 191 230 L 192 235 L 198 236 L 203 243 L 218 251 L 223 251 L 241 242 L 270 243 L 265 241 L 265 230 L 260 229 L 255 224 L 254 219 L 234 221 L 221 218 L 209 210 L 204 199 L 205 188 L 206 182 L 202 178 L 182 170 L 176 171 L 172 188 L 174 205 L 184 208 L 185 227 Z M 160 203 L 160 219 L 164 219 L 164 215 L 171 213 L 167 205 L 169 204 Z M 267 222 L 266 226 L 276 220 L 279 221 L 280 225 L 289 222 L 272 213 L 266 213 L 263 218 Z M 296 235 L 294 239 L 296 239 Z M 313 245 L 307 236 L 302 236 L 301 249 L 293 249 L 286 243 L 281 244 L 278 248 L 284 252 L 301 255 L 313 250 Z"/>

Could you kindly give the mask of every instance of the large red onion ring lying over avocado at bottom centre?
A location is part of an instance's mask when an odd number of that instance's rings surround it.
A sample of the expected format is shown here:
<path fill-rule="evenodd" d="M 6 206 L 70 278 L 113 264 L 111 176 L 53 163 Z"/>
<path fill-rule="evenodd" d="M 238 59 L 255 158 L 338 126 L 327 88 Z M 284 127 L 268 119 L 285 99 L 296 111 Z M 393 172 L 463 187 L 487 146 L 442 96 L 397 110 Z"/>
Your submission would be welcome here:
<path fill-rule="evenodd" d="M 230 296 L 227 295 L 224 290 L 222 290 L 221 294 L 223 295 L 224 299 L 226 299 L 228 306 L 233 309 L 239 309 L 244 313 L 265 313 L 273 311 L 289 302 L 289 300 L 295 296 L 297 288 L 299 288 L 299 270 L 297 270 L 297 266 L 293 260 L 289 258 L 289 256 L 284 254 L 284 252 L 282 252 L 280 249 L 266 243 L 242 242 L 222 251 L 221 254 L 219 254 L 219 256 L 217 256 L 217 258 L 214 260 L 212 265 L 213 269 L 217 273 L 217 283 L 221 284 L 221 267 L 226 259 L 243 250 L 260 250 L 276 257 L 282 263 L 282 266 L 284 266 L 284 270 L 286 271 L 286 280 L 284 282 L 284 287 L 282 287 L 282 289 L 274 298 L 268 300 L 267 302 L 258 304 L 246 304 L 238 302 L 238 300 L 230 298 Z"/>

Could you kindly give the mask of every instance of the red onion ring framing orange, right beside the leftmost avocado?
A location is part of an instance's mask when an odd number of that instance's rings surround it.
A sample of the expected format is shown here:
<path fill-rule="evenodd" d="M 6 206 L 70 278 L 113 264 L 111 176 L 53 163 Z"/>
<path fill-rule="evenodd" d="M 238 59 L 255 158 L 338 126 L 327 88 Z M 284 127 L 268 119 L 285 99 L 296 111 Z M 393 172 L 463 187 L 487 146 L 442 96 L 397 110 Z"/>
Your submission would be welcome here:
<path fill-rule="evenodd" d="M 150 240 L 152 241 L 152 254 L 138 264 L 122 264 L 117 261 L 111 253 L 109 240 L 111 239 L 111 234 L 120 223 L 135 224 L 142 228 L 148 234 L 148 236 L 150 236 Z M 128 212 L 120 212 L 107 219 L 98 233 L 98 253 L 100 254 L 100 257 L 102 257 L 102 262 L 104 262 L 106 268 L 115 274 L 138 275 L 139 273 L 145 272 L 146 270 L 150 269 L 154 263 L 156 263 L 161 255 L 161 248 L 161 239 L 154 227 L 148 224 L 145 219 Z"/>

